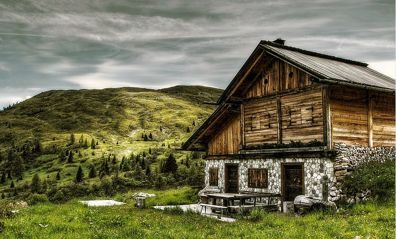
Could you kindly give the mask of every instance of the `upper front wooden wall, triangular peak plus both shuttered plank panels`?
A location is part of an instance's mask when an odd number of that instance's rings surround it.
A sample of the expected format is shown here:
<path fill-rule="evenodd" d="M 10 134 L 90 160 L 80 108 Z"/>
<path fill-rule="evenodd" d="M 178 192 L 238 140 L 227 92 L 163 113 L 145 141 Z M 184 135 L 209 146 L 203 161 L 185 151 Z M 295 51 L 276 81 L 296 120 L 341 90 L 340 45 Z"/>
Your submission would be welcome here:
<path fill-rule="evenodd" d="M 323 141 L 322 88 L 313 87 L 309 78 L 308 73 L 272 59 L 245 93 L 246 146 Z"/>

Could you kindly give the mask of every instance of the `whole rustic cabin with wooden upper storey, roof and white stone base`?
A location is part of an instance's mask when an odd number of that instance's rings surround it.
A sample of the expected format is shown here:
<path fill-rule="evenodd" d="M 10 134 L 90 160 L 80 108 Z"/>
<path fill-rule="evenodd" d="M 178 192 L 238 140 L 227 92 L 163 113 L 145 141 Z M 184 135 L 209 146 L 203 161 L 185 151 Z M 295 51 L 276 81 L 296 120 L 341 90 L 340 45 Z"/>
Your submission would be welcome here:
<path fill-rule="evenodd" d="M 394 151 L 395 79 L 283 43 L 260 42 L 182 146 L 206 151 L 206 188 L 281 193 L 282 205 L 337 183 L 339 143 Z"/>

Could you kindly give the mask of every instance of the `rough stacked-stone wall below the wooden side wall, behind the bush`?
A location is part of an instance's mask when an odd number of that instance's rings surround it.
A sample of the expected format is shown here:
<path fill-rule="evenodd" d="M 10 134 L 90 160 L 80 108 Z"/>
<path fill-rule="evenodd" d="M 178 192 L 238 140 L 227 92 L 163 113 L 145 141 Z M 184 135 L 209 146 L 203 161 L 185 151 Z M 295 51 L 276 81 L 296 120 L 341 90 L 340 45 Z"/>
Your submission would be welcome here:
<path fill-rule="evenodd" d="M 336 201 L 345 197 L 342 182 L 347 173 L 363 163 L 371 161 L 384 162 L 387 159 L 395 159 L 395 147 L 368 147 L 363 145 L 346 145 L 345 143 L 335 143 L 334 150 L 337 151 L 334 157 L 335 182 L 330 187 L 330 197 Z M 353 198 L 348 198 L 350 202 L 364 201 L 370 197 L 370 192 L 359 192 Z"/>

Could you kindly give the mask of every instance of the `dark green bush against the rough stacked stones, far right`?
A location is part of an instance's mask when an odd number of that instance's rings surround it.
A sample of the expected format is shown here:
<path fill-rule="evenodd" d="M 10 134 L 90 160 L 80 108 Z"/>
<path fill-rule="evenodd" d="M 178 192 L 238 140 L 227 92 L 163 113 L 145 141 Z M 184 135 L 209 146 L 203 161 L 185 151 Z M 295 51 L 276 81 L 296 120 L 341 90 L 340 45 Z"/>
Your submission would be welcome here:
<path fill-rule="evenodd" d="M 369 162 L 346 175 L 344 189 L 355 195 L 360 191 L 371 191 L 372 198 L 388 201 L 395 198 L 395 160 Z"/>

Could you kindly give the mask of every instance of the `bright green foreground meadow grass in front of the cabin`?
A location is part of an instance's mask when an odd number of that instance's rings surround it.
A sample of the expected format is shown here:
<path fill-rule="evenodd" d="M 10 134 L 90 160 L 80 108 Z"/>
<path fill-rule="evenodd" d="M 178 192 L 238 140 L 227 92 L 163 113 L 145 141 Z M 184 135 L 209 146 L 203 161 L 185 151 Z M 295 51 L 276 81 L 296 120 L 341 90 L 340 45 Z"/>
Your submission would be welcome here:
<path fill-rule="evenodd" d="M 234 223 L 179 210 L 160 211 L 157 204 L 192 197 L 194 191 L 148 191 L 147 209 L 136 209 L 128 192 L 116 199 L 127 204 L 87 207 L 76 199 L 66 204 L 42 203 L 22 209 L 4 221 L 1 238 L 246 238 L 246 239 L 370 239 L 395 238 L 395 202 L 356 204 L 337 213 L 318 212 L 300 217 L 256 212 Z M 178 202 L 194 203 L 186 199 Z M 259 217 L 259 218 L 258 218 Z M 257 219 L 258 218 L 258 219 Z"/>

